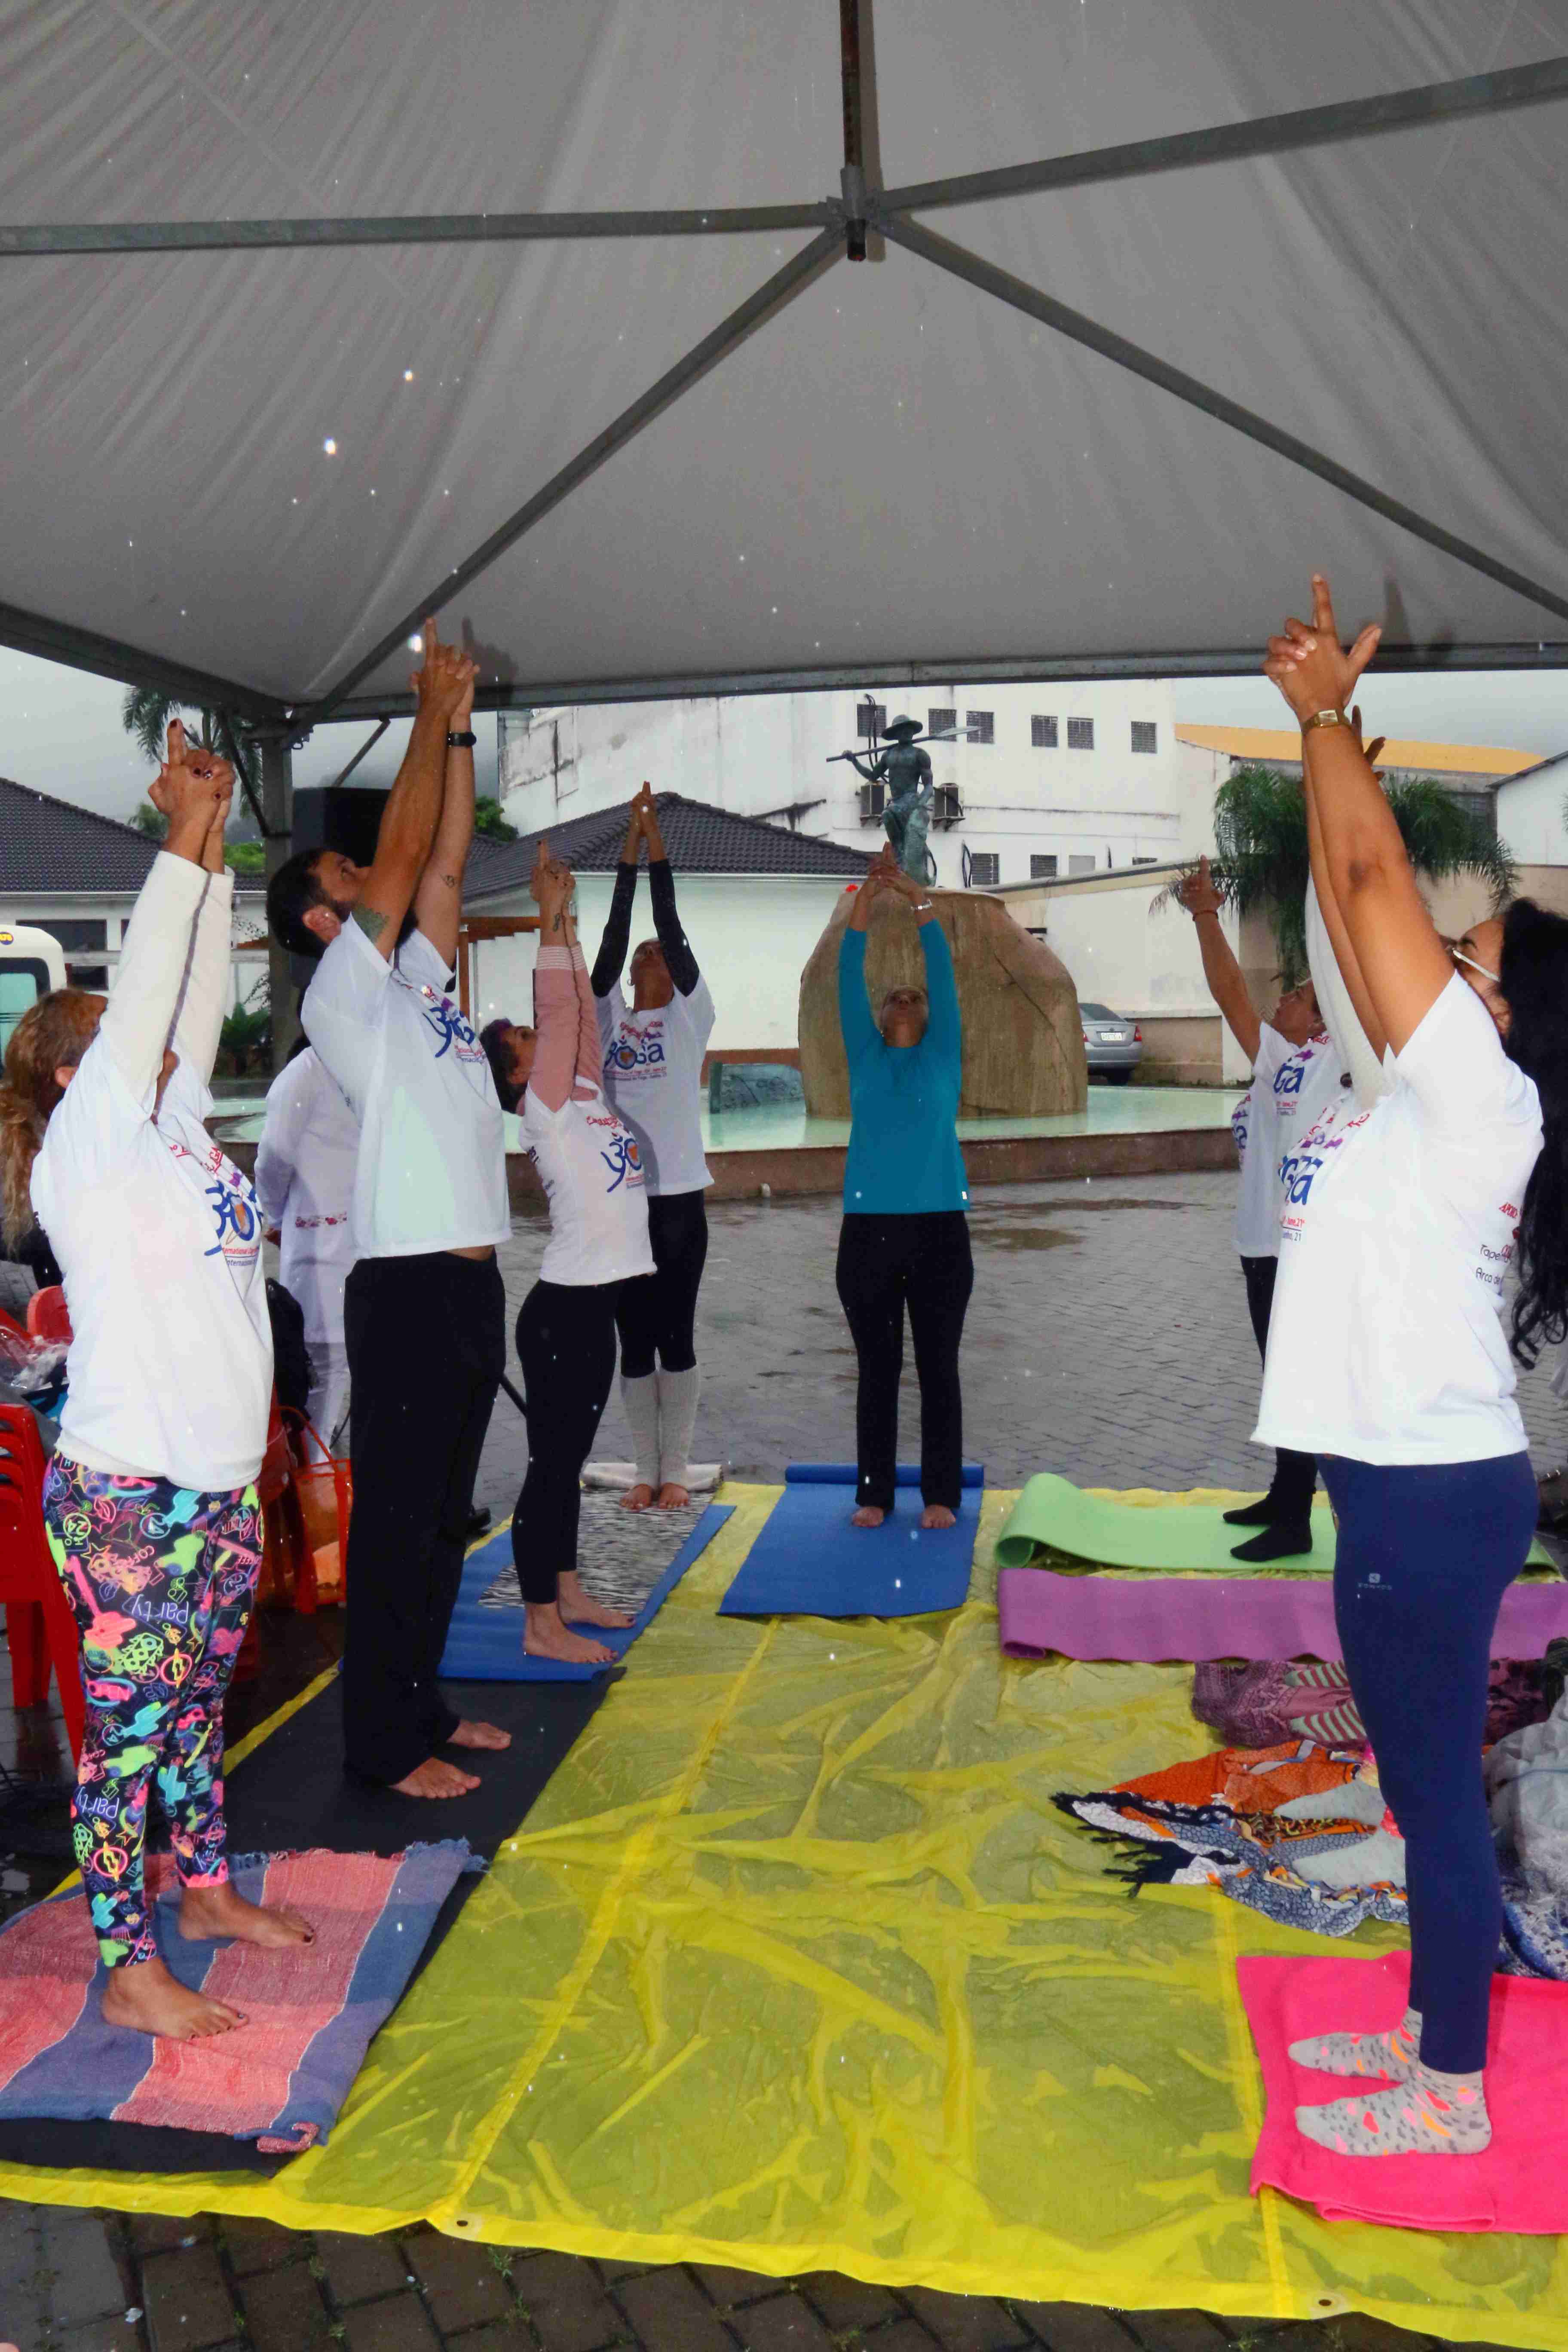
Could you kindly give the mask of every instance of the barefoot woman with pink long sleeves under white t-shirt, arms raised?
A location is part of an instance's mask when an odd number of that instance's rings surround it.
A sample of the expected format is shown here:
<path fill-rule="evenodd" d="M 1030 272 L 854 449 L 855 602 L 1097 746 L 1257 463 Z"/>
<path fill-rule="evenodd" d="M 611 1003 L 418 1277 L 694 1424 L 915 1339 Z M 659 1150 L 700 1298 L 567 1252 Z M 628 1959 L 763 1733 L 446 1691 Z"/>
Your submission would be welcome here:
<path fill-rule="evenodd" d="M 484 1033 L 503 1108 L 520 1112 L 550 1200 L 538 1282 L 517 1317 L 529 1475 L 512 1512 L 512 1559 L 527 1604 L 524 1651 L 609 1665 L 614 1651 L 574 1630 L 630 1625 L 578 1583 L 578 1479 L 616 1378 L 616 1294 L 654 1272 L 649 1200 L 637 1138 L 599 1087 L 599 1021 L 571 915 L 571 868 L 545 842 L 531 887 L 541 915 L 534 1030 L 494 1023 Z"/>

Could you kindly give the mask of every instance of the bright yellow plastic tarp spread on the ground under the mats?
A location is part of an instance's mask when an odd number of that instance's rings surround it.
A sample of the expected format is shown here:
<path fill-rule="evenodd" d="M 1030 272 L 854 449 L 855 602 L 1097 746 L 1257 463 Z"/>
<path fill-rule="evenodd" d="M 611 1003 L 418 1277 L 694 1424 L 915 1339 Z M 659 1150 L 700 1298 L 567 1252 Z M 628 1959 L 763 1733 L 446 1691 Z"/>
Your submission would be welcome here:
<path fill-rule="evenodd" d="M 1190 1670 L 1001 1658 L 999 1494 L 952 1616 L 719 1618 L 776 1494 L 724 1491 L 329 2147 L 270 2183 L 5 2169 L 0 2192 L 1568 2352 L 1556 2239 L 1248 2194 L 1237 1955 L 1324 1945 L 1218 1893 L 1131 1900 L 1053 1804 L 1201 1748 Z"/>

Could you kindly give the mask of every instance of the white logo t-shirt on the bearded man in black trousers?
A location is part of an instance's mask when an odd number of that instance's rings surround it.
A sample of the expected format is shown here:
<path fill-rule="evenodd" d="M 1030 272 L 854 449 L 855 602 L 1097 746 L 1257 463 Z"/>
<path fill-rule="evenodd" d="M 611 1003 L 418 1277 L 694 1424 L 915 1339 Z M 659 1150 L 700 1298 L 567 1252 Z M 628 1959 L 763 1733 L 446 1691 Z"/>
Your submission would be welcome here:
<path fill-rule="evenodd" d="M 388 964 L 346 922 L 299 1009 L 360 1122 L 357 1258 L 477 1249 L 512 1230 L 496 1082 L 447 981 L 423 931 Z"/>

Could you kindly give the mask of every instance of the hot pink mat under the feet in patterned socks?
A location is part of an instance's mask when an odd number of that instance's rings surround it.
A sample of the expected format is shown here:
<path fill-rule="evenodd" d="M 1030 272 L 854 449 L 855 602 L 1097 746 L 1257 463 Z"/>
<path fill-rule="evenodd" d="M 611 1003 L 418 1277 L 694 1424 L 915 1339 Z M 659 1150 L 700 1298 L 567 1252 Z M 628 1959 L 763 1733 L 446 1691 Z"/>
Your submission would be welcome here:
<path fill-rule="evenodd" d="M 1410 1955 L 1382 1959 L 1237 1962 L 1267 2117 L 1253 2194 L 1284 2190 L 1324 2220 L 1394 2230 L 1568 2230 L 1568 1985 L 1493 1978 L 1486 2105 L 1493 2145 L 1479 2157 L 1335 2157 L 1295 2129 L 1298 2107 L 1345 2098 L 1356 2084 L 1298 2067 L 1291 2042 L 1321 2032 L 1382 2032 L 1406 2011 Z M 1361 2084 L 1382 2089 L 1382 2084 Z"/>

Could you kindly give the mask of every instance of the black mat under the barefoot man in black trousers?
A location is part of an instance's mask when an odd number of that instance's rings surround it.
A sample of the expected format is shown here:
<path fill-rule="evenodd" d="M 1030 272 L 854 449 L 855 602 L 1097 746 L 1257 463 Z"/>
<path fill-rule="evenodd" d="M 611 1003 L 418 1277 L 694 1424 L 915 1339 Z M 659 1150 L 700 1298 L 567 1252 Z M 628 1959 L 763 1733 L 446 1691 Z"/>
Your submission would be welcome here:
<path fill-rule="evenodd" d="M 329 1853 L 400 1853 L 421 1837 L 465 1837 L 489 1860 L 534 1809 L 550 1773 L 618 1679 L 442 1684 L 458 1712 L 512 1733 L 512 1745 L 501 1755 L 449 1750 L 456 1762 L 473 1764 L 480 1788 L 442 1804 L 393 1797 L 390 1790 L 362 1788 L 343 1776 L 343 1708 L 341 1684 L 334 1679 L 235 1766 L 226 1788 L 230 1851 L 324 1846 Z M 418 1983 L 430 1966 L 477 1884 L 480 1872 L 456 1882 L 435 1915 L 409 1983 Z M 263 2157 L 254 2140 L 230 2140 L 216 2131 L 26 2117 L 0 2122 L 0 2164 L 92 2173 L 273 2176 L 292 2161 L 294 2157 Z"/>

